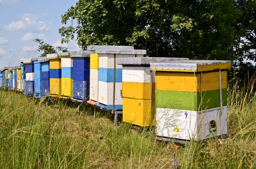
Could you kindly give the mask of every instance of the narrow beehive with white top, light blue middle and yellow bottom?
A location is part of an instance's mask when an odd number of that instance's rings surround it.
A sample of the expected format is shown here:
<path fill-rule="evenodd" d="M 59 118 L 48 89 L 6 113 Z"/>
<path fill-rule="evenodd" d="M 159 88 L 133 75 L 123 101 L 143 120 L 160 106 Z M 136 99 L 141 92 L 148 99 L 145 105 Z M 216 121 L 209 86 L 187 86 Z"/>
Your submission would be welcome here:
<path fill-rule="evenodd" d="M 61 98 L 70 99 L 73 97 L 73 58 L 69 52 L 58 53 L 61 57 Z"/>

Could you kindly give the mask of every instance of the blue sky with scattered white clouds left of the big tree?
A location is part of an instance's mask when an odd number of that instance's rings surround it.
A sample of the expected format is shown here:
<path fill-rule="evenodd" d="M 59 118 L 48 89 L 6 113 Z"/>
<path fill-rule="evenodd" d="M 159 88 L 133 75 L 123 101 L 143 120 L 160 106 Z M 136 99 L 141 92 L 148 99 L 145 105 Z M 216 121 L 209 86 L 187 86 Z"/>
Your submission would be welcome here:
<path fill-rule="evenodd" d="M 61 44 L 58 29 L 61 14 L 77 0 L 0 0 L 0 69 L 17 66 L 21 58 L 39 56 L 35 38 L 43 39 L 53 46 L 65 46 L 78 50 L 73 40 Z M 70 26 L 70 23 L 67 24 Z M 13 60 L 13 61 L 12 61 Z"/>

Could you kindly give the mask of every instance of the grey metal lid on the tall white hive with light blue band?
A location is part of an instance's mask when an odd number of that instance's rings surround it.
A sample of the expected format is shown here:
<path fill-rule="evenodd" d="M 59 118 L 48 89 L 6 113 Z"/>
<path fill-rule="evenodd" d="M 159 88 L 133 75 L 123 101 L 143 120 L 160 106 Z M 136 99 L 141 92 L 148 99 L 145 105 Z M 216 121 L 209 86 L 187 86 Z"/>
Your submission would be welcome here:
<path fill-rule="evenodd" d="M 127 49 L 102 49 L 96 50 L 98 54 L 147 54 L 146 50 L 127 50 Z"/>

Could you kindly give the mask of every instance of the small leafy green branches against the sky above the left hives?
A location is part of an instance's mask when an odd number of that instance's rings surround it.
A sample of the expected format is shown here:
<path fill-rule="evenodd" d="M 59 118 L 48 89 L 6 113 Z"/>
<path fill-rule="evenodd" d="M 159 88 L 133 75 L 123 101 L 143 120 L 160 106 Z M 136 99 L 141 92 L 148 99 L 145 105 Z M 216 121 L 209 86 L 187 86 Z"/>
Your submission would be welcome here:
<path fill-rule="evenodd" d="M 52 53 L 57 53 L 57 52 L 68 52 L 66 47 L 58 46 L 55 49 L 53 46 L 49 45 L 48 43 L 44 43 L 43 40 L 38 39 L 38 38 L 34 39 L 33 41 L 36 42 L 36 43 L 39 43 L 39 45 L 38 45 L 38 52 L 41 52 L 41 51 L 44 52 L 44 53 L 42 53 L 40 55 L 41 57 L 44 57 L 47 54 L 52 54 Z"/>

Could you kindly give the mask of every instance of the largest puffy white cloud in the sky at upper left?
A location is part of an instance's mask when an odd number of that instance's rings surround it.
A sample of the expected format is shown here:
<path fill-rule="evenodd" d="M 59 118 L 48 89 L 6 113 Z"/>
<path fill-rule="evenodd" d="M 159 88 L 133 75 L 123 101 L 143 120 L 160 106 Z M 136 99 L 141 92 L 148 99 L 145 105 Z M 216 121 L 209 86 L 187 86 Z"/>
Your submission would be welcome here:
<path fill-rule="evenodd" d="M 19 15 L 21 20 L 13 21 L 9 25 L 5 25 L 6 30 L 10 31 L 30 31 L 30 32 L 41 32 L 50 31 L 51 28 L 47 27 L 42 21 L 37 21 L 38 17 L 32 14 Z"/>

